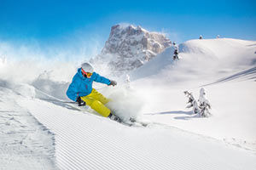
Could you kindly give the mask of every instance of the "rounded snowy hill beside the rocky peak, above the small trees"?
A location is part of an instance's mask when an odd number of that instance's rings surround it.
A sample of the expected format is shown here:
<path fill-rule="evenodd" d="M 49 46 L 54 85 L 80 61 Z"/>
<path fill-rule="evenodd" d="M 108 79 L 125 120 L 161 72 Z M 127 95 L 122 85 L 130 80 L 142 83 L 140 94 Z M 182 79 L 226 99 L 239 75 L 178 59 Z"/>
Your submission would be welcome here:
<path fill-rule="evenodd" d="M 173 48 L 167 48 L 162 54 L 132 71 L 131 80 L 150 77 L 160 82 L 211 82 L 256 65 L 256 42 L 253 41 L 230 38 L 190 40 L 178 48 L 180 60 L 173 62 Z"/>

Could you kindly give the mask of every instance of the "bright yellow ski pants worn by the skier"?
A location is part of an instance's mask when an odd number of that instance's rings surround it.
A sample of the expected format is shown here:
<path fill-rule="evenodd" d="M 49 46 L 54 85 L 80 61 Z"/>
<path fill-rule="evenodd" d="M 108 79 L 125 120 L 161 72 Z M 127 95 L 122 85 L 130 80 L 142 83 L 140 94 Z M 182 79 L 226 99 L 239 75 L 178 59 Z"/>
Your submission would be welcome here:
<path fill-rule="evenodd" d="M 105 104 L 108 103 L 109 99 L 105 98 L 102 94 L 98 93 L 96 89 L 92 88 L 92 91 L 87 96 L 81 97 L 86 105 L 89 105 L 91 109 L 98 112 L 102 116 L 109 116 L 110 110 Z"/>

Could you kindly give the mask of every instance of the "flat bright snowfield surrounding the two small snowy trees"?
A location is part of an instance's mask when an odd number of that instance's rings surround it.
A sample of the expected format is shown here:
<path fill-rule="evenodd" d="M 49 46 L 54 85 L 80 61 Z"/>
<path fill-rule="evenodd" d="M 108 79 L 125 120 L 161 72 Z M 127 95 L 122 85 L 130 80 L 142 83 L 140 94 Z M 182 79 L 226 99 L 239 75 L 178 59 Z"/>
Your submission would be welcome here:
<path fill-rule="evenodd" d="M 189 90 L 195 99 L 199 99 L 200 88 L 189 84 L 179 87 L 166 84 L 158 88 L 136 82 L 132 85 L 147 104 L 143 107 L 144 118 L 256 150 L 256 88 L 253 80 L 206 86 L 207 99 L 212 105 L 212 116 L 207 118 L 193 115 L 192 109 L 186 108 L 188 99 L 183 91 Z"/>

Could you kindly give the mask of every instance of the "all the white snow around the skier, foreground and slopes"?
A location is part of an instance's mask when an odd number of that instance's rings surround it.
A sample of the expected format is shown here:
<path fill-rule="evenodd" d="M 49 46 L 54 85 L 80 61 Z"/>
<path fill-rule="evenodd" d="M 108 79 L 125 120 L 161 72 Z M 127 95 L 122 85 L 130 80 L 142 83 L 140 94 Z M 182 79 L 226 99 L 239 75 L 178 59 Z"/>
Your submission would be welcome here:
<path fill-rule="evenodd" d="M 113 99 L 108 106 L 148 127 L 127 127 L 56 101 L 67 100 L 76 63 L 6 53 L 0 169 L 256 169 L 255 46 L 226 38 L 184 42 L 179 60 L 167 48 L 131 72 L 130 86 L 98 68 L 119 83 L 95 84 Z M 186 108 L 183 91 L 198 99 L 201 86 L 212 104 L 209 117 Z"/>

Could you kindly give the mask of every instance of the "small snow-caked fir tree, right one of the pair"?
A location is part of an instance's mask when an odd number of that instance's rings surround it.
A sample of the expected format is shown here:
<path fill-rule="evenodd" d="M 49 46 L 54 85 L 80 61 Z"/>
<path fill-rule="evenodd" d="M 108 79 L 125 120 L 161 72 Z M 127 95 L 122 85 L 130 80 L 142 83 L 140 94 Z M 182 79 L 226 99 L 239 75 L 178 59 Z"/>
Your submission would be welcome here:
<path fill-rule="evenodd" d="M 211 113 L 209 111 L 209 109 L 211 109 L 211 105 L 210 105 L 209 101 L 206 99 L 205 95 L 206 95 L 205 88 L 201 88 L 200 89 L 200 97 L 198 99 L 201 116 L 211 115 Z"/>

